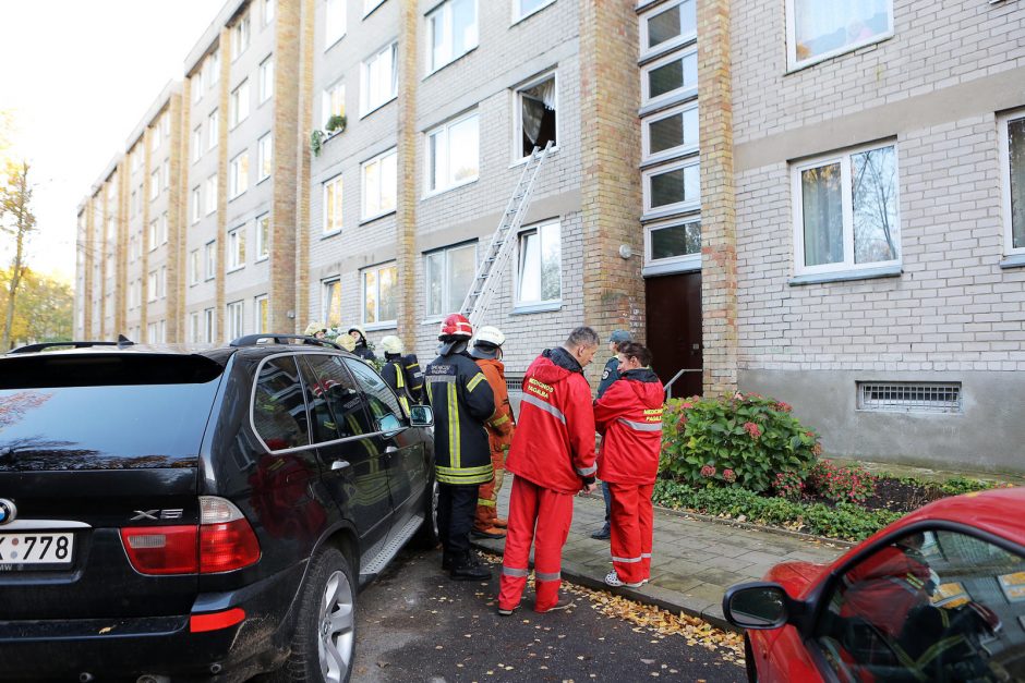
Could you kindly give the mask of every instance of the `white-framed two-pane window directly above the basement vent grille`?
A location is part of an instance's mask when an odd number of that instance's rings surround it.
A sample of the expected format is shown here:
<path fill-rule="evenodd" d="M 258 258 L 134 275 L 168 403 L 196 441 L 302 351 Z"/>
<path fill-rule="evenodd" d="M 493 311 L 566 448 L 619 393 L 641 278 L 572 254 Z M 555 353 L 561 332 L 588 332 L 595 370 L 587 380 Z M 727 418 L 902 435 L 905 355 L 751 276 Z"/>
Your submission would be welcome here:
<path fill-rule="evenodd" d="M 893 145 L 816 159 L 793 173 L 798 275 L 900 263 Z"/>

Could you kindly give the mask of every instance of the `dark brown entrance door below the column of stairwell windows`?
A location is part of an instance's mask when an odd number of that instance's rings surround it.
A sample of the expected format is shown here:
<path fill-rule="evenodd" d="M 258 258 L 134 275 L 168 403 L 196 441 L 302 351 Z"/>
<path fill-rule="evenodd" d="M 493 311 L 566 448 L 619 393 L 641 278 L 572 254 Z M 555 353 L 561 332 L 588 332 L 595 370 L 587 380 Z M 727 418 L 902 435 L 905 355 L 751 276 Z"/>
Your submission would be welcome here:
<path fill-rule="evenodd" d="M 652 367 L 662 382 L 684 373 L 673 383 L 676 398 L 701 394 L 701 273 L 648 278 L 644 281 L 648 347 Z"/>

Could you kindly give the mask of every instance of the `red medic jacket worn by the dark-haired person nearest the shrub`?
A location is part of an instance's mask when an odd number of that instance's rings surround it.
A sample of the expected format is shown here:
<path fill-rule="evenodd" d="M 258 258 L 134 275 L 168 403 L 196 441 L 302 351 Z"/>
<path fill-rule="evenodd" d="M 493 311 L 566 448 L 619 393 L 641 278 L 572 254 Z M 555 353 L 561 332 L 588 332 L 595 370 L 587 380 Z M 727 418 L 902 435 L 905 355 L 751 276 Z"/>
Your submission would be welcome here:
<path fill-rule="evenodd" d="M 613 484 L 654 484 L 662 450 L 665 391 L 649 368 L 627 370 L 594 403 L 603 436 L 598 476 Z"/>

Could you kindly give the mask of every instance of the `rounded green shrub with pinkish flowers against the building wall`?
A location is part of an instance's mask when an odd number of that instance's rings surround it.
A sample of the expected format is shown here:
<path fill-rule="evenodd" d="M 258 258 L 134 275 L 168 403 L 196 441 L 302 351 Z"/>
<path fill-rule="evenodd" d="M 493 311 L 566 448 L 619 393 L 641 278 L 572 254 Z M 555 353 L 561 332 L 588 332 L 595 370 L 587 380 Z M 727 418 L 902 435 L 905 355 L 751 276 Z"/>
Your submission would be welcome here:
<path fill-rule="evenodd" d="M 804 475 L 821 452 L 789 405 L 757 394 L 671 399 L 662 436 L 660 473 L 695 486 L 764 491 L 776 473 Z"/>

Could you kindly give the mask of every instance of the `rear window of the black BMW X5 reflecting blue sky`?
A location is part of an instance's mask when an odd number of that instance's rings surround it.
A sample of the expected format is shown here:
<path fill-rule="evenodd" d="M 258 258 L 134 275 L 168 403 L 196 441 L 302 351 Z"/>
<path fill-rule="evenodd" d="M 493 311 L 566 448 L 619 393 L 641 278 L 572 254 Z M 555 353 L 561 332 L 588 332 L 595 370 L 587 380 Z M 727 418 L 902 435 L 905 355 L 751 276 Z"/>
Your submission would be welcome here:
<path fill-rule="evenodd" d="M 195 466 L 224 368 L 203 356 L 0 361 L 0 472 Z"/>

